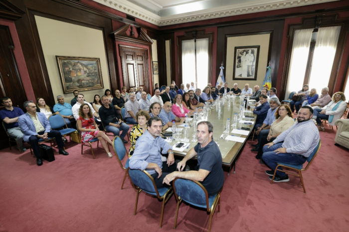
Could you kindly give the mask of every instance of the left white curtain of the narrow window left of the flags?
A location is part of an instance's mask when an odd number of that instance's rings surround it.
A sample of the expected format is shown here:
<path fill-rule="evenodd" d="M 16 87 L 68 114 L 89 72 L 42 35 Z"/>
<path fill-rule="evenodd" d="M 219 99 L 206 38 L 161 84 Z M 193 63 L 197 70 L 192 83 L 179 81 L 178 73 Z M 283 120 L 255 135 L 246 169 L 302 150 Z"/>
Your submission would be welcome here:
<path fill-rule="evenodd" d="M 182 80 L 183 83 L 177 83 L 186 85 L 186 83 L 195 81 L 195 42 L 194 40 L 182 41 Z M 195 85 L 196 87 L 196 85 Z M 186 88 L 186 87 L 185 87 Z"/>

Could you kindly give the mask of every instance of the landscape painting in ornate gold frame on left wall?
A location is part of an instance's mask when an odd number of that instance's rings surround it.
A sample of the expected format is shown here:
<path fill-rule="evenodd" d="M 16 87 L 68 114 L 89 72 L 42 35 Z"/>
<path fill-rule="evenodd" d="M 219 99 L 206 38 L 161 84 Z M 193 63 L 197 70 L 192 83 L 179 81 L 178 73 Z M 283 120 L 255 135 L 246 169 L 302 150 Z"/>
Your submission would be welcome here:
<path fill-rule="evenodd" d="M 99 58 L 56 56 L 63 93 L 103 89 Z"/>

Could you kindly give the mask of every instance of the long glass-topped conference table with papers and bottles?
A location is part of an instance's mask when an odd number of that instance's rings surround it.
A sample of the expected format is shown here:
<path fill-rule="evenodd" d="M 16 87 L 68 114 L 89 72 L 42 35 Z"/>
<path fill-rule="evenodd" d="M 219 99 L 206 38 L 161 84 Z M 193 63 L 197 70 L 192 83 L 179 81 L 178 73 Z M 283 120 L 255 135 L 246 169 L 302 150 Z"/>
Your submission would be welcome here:
<path fill-rule="evenodd" d="M 240 129 L 241 126 L 250 128 L 249 131 L 243 130 L 243 131 L 247 131 L 248 134 L 242 135 L 242 134 L 238 134 L 238 133 L 232 133 L 233 118 L 234 118 L 235 113 L 237 115 L 239 115 L 240 106 L 241 106 L 241 104 L 240 104 L 240 100 L 238 97 L 235 99 L 235 104 L 233 104 L 232 101 L 230 101 L 230 106 L 228 105 L 228 103 L 225 103 L 221 107 L 220 114 L 218 114 L 218 112 L 216 111 L 215 105 L 213 105 L 213 106 L 211 106 L 211 109 L 208 111 L 208 113 L 206 115 L 207 117 L 203 118 L 201 116 L 201 118 L 196 121 L 196 124 L 199 121 L 203 121 L 203 120 L 204 121 L 207 120 L 207 121 L 212 123 L 212 125 L 213 125 L 213 136 L 212 137 L 213 137 L 213 141 L 215 141 L 217 143 L 219 150 L 221 152 L 222 165 L 228 166 L 230 168 L 233 164 L 236 164 L 236 157 L 239 154 L 239 152 L 242 149 L 245 142 L 247 141 L 247 137 L 252 132 L 252 128 L 253 128 L 253 125 L 254 125 L 255 120 L 256 120 L 256 115 L 254 115 L 252 113 L 252 108 L 251 108 L 251 110 L 245 110 L 244 116 L 254 116 L 254 119 L 243 118 L 243 120 L 250 120 L 253 124 L 249 125 L 249 124 L 244 124 L 244 123 L 237 123 L 236 129 L 242 131 Z M 227 133 L 224 133 L 223 131 L 226 127 L 226 121 L 228 118 L 230 119 L 230 128 L 229 128 L 228 135 L 233 135 L 233 136 L 245 138 L 243 142 L 231 141 L 231 140 L 226 139 Z M 196 131 L 194 131 L 194 127 L 195 127 L 194 120 L 191 120 L 190 127 L 187 129 L 187 131 L 188 131 L 187 139 L 189 141 L 187 141 L 187 140 L 183 141 L 183 138 L 184 138 L 183 130 L 181 131 L 181 134 L 179 135 L 181 141 L 174 140 L 174 139 L 172 139 L 172 141 L 171 141 L 170 139 L 168 139 L 170 145 L 172 145 L 174 147 L 174 149 L 173 149 L 174 155 L 185 156 L 186 152 L 189 151 L 192 147 L 194 147 L 197 144 L 197 141 L 192 141 L 193 135 L 194 134 L 196 135 Z M 184 127 L 180 127 L 180 128 L 184 128 Z M 185 142 L 185 149 L 183 151 L 179 151 L 178 148 L 175 148 L 175 144 L 178 144 L 179 142 Z M 182 147 L 182 149 L 183 148 L 184 148 L 184 146 Z M 194 159 L 196 159 L 196 156 L 194 157 Z M 235 173 L 235 165 L 234 165 L 234 173 Z"/>

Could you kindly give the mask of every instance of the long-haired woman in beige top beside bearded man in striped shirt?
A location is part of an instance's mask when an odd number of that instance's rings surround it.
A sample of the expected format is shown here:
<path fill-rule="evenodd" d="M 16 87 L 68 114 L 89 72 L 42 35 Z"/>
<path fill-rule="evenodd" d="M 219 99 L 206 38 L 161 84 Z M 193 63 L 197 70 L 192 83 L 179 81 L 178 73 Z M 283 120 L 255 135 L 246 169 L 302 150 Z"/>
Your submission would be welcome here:
<path fill-rule="evenodd" d="M 279 134 L 290 128 L 295 123 L 289 106 L 281 105 L 275 111 L 275 121 L 271 124 L 269 134 L 261 137 L 261 143 L 258 148 L 256 159 L 260 159 L 263 155 L 263 146 L 273 141 Z"/>

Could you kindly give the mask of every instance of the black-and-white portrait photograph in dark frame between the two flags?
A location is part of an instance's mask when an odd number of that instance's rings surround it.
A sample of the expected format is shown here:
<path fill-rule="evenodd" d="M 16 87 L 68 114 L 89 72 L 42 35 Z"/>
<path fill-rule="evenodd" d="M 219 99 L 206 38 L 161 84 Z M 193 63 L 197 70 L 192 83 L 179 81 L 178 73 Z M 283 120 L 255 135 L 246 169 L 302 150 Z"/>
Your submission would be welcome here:
<path fill-rule="evenodd" d="M 233 80 L 257 80 L 259 47 L 235 47 Z"/>

